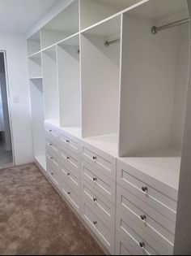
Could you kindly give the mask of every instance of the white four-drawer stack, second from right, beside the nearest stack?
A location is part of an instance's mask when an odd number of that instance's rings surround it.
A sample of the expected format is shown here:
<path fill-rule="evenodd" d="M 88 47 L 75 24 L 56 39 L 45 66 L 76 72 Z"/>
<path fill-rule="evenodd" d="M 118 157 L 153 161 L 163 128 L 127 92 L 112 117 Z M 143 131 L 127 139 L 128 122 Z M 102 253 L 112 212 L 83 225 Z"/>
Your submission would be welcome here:
<path fill-rule="evenodd" d="M 84 141 L 81 158 L 83 219 L 114 254 L 116 158 Z"/>

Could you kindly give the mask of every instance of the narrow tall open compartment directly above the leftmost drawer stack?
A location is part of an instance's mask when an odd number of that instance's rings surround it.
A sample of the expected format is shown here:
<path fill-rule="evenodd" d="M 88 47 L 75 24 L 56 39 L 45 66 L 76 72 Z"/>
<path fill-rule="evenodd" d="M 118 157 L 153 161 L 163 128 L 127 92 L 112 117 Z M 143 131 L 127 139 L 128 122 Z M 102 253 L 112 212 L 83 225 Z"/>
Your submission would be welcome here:
<path fill-rule="evenodd" d="M 42 67 L 45 95 L 45 119 L 59 119 L 56 46 L 50 47 L 42 52 Z"/>

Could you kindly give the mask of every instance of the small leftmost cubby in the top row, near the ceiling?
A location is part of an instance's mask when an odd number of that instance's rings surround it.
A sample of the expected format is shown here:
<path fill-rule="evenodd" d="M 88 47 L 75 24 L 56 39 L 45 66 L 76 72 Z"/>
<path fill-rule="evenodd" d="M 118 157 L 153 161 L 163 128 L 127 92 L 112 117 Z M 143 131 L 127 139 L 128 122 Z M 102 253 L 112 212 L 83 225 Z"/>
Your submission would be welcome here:
<path fill-rule="evenodd" d="M 28 55 L 36 54 L 40 51 L 40 31 L 34 33 L 31 37 L 27 40 L 28 44 Z"/>

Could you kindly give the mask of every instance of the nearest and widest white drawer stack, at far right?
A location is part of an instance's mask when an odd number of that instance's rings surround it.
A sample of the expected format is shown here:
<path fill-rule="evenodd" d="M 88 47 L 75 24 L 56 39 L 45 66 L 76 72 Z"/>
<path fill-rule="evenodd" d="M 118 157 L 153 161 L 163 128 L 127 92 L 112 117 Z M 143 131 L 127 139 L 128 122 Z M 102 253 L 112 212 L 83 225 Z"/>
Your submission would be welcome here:
<path fill-rule="evenodd" d="M 117 160 L 116 254 L 173 254 L 173 190 Z"/>

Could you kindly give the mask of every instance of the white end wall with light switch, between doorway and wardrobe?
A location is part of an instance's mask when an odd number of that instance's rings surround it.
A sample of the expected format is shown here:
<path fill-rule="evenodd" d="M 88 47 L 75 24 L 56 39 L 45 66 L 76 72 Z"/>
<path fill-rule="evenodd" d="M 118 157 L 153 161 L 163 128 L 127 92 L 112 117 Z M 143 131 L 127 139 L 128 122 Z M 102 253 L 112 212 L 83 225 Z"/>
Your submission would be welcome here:
<path fill-rule="evenodd" d="M 33 150 L 26 37 L 1 33 L 0 50 L 6 50 L 15 164 L 30 163 Z M 15 96 L 19 96 L 18 103 L 13 102 Z"/>

